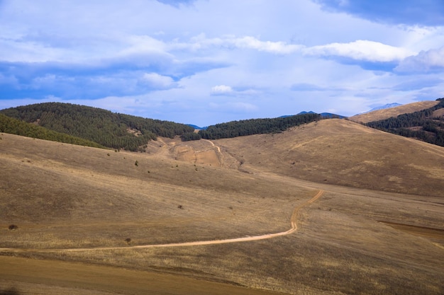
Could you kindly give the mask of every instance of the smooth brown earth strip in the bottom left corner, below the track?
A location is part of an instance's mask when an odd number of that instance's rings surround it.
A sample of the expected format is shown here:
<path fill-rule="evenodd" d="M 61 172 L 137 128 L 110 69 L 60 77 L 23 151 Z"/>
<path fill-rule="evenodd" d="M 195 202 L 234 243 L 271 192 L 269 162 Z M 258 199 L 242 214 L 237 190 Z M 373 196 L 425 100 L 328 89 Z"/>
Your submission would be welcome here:
<path fill-rule="evenodd" d="M 121 267 L 6 256 L 0 256 L 0 262 L 0 294 L 279 295 L 271 291 Z"/>

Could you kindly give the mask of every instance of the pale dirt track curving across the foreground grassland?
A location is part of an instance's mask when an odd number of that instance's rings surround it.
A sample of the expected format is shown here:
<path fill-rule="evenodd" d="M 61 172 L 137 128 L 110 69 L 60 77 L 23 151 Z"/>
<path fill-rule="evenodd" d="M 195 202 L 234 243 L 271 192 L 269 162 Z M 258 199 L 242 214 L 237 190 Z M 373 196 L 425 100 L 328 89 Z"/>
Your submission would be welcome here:
<path fill-rule="evenodd" d="M 168 244 L 155 244 L 155 245 L 133 245 L 126 247 L 96 247 L 96 248 L 72 248 L 72 249 L 17 249 L 17 248 L 0 248 L 0 251 L 7 252 L 53 252 L 53 251 L 67 251 L 67 252 L 81 252 L 81 251 L 91 251 L 91 250 L 120 250 L 120 249 L 140 249 L 140 248 L 169 248 L 169 247 L 184 247 L 184 246 L 194 246 L 194 245 L 216 245 L 216 244 L 226 244 L 226 243 L 239 243 L 247 241 L 258 241 L 265 240 L 267 238 L 276 238 L 278 236 L 287 236 L 290 233 L 294 233 L 297 230 L 297 220 L 299 216 L 299 210 L 308 206 L 309 204 L 315 202 L 323 195 L 323 190 L 319 190 L 318 193 L 309 199 L 304 204 L 300 204 L 298 207 L 294 208 L 291 221 L 291 229 L 288 231 L 282 231 L 280 233 L 268 233 L 261 236 L 246 236 L 243 238 L 228 238 L 225 240 L 211 240 L 211 241 L 195 241 L 195 242 L 184 242 L 184 243 L 168 243 Z"/>

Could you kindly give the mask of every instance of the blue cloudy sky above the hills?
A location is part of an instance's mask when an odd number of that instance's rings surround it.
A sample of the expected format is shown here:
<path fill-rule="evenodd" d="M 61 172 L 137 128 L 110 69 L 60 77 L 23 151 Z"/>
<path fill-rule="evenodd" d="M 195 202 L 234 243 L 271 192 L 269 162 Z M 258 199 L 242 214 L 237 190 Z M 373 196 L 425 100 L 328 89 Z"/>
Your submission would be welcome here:
<path fill-rule="evenodd" d="M 442 97 L 443 0 L 0 0 L 0 109 L 206 126 Z"/>

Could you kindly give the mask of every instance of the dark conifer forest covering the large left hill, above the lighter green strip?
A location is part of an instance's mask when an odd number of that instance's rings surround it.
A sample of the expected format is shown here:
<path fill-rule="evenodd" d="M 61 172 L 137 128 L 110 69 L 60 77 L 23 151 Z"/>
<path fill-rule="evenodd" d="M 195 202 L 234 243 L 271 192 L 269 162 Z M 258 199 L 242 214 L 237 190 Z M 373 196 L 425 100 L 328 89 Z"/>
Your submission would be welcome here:
<path fill-rule="evenodd" d="M 175 137 L 194 129 L 184 124 L 124 115 L 70 103 L 38 103 L 1 110 L 4 115 L 101 146 L 142 151 L 157 137 Z"/>

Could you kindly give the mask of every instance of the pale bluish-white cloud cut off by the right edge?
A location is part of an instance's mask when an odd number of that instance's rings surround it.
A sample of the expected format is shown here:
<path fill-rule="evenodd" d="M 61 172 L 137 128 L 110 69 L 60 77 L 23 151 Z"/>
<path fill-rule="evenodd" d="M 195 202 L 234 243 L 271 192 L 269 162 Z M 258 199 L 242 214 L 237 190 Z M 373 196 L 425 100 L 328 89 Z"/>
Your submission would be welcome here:
<path fill-rule="evenodd" d="M 395 71 L 399 72 L 427 72 L 444 71 L 444 47 L 439 49 L 421 51 L 418 54 L 407 57 L 399 63 Z"/>

